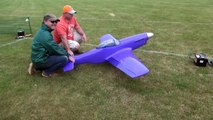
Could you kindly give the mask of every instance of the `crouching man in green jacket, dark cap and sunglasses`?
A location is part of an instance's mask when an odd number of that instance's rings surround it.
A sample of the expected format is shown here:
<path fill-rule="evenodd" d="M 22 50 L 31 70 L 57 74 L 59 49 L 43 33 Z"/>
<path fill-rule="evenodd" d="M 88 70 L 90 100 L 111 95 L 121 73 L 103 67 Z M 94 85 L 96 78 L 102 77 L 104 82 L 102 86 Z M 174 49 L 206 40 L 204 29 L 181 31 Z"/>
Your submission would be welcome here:
<path fill-rule="evenodd" d="M 55 29 L 59 19 L 53 14 L 47 14 L 43 18 L 41 28 L 32 41 L 32 53 L 28 72 L 30 75 L 35 70 L 41 70 L 42 76 L 49 77 L 58 68 L 62 68 L 68 60 L 75 62 L 63 48 L 53 40 L 51 32 Z"/>

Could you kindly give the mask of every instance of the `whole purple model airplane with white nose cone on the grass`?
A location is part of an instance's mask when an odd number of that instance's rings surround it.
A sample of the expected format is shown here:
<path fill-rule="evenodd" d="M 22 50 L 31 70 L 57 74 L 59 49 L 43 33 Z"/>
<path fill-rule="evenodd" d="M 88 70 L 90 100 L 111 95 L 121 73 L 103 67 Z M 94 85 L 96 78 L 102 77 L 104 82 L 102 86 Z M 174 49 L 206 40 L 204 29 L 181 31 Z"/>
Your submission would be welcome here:
<path fill-rule="evenodd" d="M 145 45 L 153 35 L 153 33 L 141 33 L 119 41 L 110 34 L 103 35 L 100 38 L 100 45 L 74 56 L 75 63 L 69 62 L 64 67 L 64 72 L 72 70 L 74 65 L 78 64 L 109 62 L 132 78 L 143 76 L 149 72 L 149 69 L 140 62 L 132 51 Z"/>

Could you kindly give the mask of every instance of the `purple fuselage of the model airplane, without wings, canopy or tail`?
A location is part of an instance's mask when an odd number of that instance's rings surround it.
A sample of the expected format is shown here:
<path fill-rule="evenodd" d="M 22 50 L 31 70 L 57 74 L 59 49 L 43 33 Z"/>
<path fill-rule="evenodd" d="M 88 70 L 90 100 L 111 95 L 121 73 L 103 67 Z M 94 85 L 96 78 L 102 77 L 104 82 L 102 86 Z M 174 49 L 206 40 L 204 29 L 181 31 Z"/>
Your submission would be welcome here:
<path fill-rule="evenodd" d="M 110 57 L 110 55 L 116 53 L 117 51 L 125 48 L 129 48 L 131 50 L 137 49 L 146 44 L 149 37 L 152 37 L 152 33 L 141 33 L 134 36 L 126 37 L 120 39 L 120 44 L 117 46 L 110 46 L 99 49 L 92 49 L 88 52 L 85 52 L 81 55 L 74 56 L 76 62 L 75 64 L 83 64 L 83 63 L 102 63 Z"/>

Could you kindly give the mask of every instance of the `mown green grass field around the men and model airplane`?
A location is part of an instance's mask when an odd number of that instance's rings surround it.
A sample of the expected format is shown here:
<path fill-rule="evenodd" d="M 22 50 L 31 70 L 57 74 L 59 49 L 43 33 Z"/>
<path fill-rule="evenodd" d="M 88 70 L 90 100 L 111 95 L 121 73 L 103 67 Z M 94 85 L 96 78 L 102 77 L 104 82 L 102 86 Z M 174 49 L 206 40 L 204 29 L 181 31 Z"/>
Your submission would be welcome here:
<path fill-rule="evenodd" d="M 131 79 L 103 63 L 52 78 L 28 75 L 32 40 L 15 40 L 13 26 L 30 17 L 35 33 L 45 13 L 60 16 L 65 4 L 88 36 L 84 51 L 106 33 L 120 39 L 153 32 L 134 51 L 150 73 Z M 212 0 L 1 0 L 0 10 L 0 120 L 213 119 L 213 67 L 185 57 L 213 57 Z"/>

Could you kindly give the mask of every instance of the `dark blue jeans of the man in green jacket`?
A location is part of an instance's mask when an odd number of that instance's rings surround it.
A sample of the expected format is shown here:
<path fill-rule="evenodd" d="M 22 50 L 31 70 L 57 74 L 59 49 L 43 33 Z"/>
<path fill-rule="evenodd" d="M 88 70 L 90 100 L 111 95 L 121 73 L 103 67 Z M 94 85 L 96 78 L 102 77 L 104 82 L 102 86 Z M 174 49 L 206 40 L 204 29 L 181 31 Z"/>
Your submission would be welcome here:
<path fill-rule="evenodd" d="M 46 63 L 36 64 L 37 70 L 44 70 L 46 74 L 52 74 L 56 69 L 64 67 L 68 62 L 67 56 L 49 56 Z"/>

